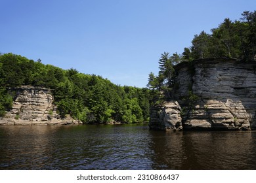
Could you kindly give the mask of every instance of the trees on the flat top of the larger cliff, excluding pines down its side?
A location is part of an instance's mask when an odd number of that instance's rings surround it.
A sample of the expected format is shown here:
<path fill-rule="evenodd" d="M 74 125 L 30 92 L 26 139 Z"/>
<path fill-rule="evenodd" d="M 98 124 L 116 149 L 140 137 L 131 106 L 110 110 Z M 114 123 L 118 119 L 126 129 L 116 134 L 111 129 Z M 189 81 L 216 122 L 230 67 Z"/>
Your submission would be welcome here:
<path fill-rule="evenodd" d="M 184 48 L 182 58 L 238 58 L 244 61 L 255 59 L 256 11 L 244 11 L 240 21 L 225 18 L 211 34 L 202 31 L 195 35 L 190 48 Z"/>

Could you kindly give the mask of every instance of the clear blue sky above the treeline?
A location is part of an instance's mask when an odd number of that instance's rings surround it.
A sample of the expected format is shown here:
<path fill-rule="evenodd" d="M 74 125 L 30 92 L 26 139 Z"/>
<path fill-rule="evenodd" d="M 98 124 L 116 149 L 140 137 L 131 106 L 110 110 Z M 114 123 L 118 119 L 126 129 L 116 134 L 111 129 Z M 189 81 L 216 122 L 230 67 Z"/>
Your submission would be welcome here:
<path fill-rule="evenodd" d="M 145 87 L 161 53 L 191 45 L 255 0 L 1 0 L 0 52 Z"/>

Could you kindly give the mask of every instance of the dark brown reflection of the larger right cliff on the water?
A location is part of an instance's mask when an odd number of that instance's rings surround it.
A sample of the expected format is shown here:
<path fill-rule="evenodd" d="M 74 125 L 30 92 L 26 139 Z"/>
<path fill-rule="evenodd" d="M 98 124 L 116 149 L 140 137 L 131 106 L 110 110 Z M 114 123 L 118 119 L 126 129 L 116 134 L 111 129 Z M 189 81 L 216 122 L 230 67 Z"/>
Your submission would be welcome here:
<path fill-rule="evenodd" d="M 256 169 L 256 131 L 152 135 L 153 169 Z"/>

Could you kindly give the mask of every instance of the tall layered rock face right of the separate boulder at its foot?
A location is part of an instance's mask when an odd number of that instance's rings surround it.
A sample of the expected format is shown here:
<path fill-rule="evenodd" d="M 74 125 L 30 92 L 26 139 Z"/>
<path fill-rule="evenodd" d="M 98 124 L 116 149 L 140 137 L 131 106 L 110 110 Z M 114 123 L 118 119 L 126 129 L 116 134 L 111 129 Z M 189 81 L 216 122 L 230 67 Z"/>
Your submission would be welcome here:
<path fill-rule="evenodd" d="M 198 105 L 190 110 L 184 127 L 199 127 L 202 121 L 213 129 L 256 127 L 255 62 L 198 60 L 194 71 L 192 92 L 198 96 Z"/>

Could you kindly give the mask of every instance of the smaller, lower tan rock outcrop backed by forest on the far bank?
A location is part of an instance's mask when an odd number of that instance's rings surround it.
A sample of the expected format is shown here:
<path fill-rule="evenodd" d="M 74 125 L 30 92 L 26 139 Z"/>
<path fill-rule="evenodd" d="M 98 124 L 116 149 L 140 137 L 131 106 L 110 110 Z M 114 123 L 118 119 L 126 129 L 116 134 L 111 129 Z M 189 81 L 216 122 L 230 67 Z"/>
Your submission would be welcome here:
<path fill-rule="evenodd" d="M 70 116 L 61 119 L 53 104 L 53 90 L 22 86 L 13 88 L 15 93 L 12 109 L 5 118 L 0 119 L 0 125 L 56 125 L 79 124 Z"/>

